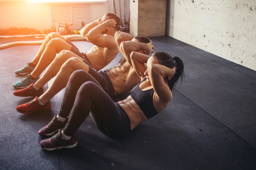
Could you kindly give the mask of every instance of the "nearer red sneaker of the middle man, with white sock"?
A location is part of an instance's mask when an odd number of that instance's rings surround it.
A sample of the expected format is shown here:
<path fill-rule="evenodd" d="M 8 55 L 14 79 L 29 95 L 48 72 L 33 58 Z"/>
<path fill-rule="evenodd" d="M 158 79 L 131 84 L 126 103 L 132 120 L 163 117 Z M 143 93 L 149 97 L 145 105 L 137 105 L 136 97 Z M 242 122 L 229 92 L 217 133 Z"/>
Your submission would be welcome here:
<path fill-rule="evenodd" d="M 20 106 L 16 107 L 16 110 L 20 113 L 23 113 L 23 114 L 29 114 L 29 113 L 32 113 L 32 112 L 39 112 L 39 111 L 44 111 L 44 110 L 48 110 L 48 109 L 50 109 L 50 103 L 47 102 L 44 105 L 40 105 L 38 103 L 37 97 L 35 97 L 35 99 L 31 100 L 28 103 L 25 103 L 23 105 L 20 105 Z"/>

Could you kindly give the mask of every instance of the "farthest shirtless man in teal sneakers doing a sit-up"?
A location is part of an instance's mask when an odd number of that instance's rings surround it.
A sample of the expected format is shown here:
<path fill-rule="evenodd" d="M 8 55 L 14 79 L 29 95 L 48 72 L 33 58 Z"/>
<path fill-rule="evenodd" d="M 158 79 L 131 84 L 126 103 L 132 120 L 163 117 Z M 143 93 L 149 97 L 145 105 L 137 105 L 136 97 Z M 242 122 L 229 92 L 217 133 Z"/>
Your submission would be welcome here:
<path fill-rule="evenodd" d="M 61 35 L 57 33 L 48 34 L 32 62 L 15 71 L 19 75 L 28 75 L 22 80 L 13 83 L 13 87 L 23 89 L 31 83 L 35 84 L 39 79 L 39 75 L 52 62 L 55 63 L 56 68 L 54 70 L 56 75 L 61 65 L 71 57 L 84 61 L 95 70 L 102 69 L 119 52 L 114 38 L 116 31 L 119 30 L 119 24 L 119 18 L 115 14 L 107 13 L 102 18 L 84 26 L 80 31 L 81 35 L 94 44 L 85 54 L 79 52 L 74 44 Z M 57 56 L 56 53 L 58 53 Z M 35 87 L 37 88 L 38 86 Z"/>

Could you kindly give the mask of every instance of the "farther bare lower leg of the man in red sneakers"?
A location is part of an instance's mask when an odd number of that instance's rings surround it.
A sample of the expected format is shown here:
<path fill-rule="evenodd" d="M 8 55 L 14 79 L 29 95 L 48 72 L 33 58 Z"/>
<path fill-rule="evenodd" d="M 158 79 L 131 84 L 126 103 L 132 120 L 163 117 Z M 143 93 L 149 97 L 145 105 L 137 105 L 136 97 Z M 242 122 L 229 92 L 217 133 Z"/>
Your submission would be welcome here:
<path fill-rule="evenodd" d="M 44 72 L 43 76 L 34 84 L 36 88 L 43 87 L 49 80 L 51 80 L 60 71 L 63 63 L 65 63 L 69 58 L 77 57 L 81 61 L 81 57 L 72 53 L 71 51 L 62 50 L 49 65 L 47 70 Z"/>

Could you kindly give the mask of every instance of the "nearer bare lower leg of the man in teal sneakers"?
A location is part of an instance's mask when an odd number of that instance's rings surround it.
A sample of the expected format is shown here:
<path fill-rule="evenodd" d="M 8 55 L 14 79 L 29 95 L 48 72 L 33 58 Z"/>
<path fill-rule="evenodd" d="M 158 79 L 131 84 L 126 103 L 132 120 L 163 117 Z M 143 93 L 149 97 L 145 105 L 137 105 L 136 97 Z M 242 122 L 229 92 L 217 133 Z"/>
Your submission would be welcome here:
<path fill-rule="evenodd" d="M 37 78 L 46 67 L 52 63 L 53 59 L 56 56 L 56 53 L 59 53 L 62 50 L 70 50 L 71 45 L 63 41 L 60 38 L 52 39 L 47 45 L 46 48 L 40 57 L 38 64 L 36 65 L 35 70 L 33 70 L 30 75 L 34 78 Z"/>

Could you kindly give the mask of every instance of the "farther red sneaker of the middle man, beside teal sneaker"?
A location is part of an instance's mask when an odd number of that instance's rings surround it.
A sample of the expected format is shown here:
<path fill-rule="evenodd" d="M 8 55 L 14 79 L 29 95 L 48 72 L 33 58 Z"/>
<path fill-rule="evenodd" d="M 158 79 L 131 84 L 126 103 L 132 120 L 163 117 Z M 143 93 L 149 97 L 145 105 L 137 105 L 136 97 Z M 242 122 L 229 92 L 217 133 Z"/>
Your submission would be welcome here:
<path fill-rule="evenodd" d="M 22 90 L 16 90 L 13 92 L 14 96 L 19 96 L 19 97 L 36 97 L 36 96 L 41 96 L 44 93 L 43 88 L 39 88 L 36 90 L 33 87 L 33 83 L 26 87 L 25 89 Z"/>

